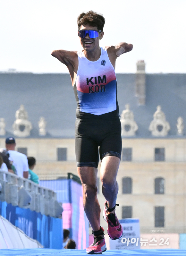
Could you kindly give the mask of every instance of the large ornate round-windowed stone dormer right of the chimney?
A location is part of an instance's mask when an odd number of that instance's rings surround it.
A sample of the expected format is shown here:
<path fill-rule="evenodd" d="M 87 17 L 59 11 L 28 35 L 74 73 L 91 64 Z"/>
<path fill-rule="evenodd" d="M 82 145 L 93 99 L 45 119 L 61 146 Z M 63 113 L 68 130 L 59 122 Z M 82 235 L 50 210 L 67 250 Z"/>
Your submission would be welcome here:
<path fill-rule="evenodd" d="M 170 125 L 165 119 L 165 114 L 161 111 L 161 106 L 157 106 L 157 110 L 154 113 L 154 120 L 150 123 L 149 131 L 153 136 L 166 136 L 170 130 Z"/>

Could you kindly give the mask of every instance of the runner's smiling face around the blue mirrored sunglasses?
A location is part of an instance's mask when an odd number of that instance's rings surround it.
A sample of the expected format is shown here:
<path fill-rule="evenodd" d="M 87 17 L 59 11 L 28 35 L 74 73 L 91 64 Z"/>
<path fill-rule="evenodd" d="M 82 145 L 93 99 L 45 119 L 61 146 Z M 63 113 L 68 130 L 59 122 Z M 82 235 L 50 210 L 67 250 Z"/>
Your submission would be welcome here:
<path fill-rule="evenodd" d="M 89 25 L 81 26 L 80 30 L 97 30 L 97 27 L 92 27 Z M 89 34 L 86 34 L 85 38 L 80 38 L 81 46 L 85 51 L 94 51 L 95 49 L 99 48 L 99 40 L 103 38 L 104 32 L 99 32 L 99 36 L 95 38 L 90 38 Z"/>

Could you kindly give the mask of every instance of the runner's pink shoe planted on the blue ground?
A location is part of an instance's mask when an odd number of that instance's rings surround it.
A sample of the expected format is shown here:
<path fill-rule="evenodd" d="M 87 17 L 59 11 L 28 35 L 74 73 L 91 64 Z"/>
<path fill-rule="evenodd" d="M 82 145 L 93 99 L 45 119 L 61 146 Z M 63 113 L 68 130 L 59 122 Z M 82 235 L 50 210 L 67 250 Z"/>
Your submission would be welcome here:
<path fill-rule="evenodd" d="M 102 227 L 100 227 L 100 232 L 104 232 Z M 86 251 L 87 254 L 102 254 L 102 252 L 106 251 L 105 238 L 94 235 L 94 242 L 86 249 Z"/>

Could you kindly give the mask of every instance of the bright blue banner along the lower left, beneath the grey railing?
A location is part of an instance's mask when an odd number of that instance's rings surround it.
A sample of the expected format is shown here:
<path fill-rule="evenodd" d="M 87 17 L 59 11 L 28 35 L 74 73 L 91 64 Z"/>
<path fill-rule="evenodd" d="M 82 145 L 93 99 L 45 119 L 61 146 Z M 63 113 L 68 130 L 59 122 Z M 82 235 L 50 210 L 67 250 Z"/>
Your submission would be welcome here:
<path fill-rule="evenodd" d="M 0 214 L 45 248 L 62 249 L 62 219 L 0 201 Z"/>

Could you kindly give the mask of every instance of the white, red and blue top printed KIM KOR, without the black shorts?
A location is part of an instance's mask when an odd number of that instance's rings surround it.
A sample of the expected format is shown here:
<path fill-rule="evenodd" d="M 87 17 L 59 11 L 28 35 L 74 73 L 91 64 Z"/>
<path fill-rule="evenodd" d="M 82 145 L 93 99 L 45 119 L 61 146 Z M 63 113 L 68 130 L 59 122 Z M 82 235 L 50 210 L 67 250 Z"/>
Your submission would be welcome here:
<path fill-rule="evenodd" d="M 106 49 L 101 47 L 100 58 L 95 62 L 89 61 L 83 52 L 78 52 L 78 60 L 73 86 L 76 116 L 81 117 L 85 113 L 99 116 L 112 111 L 118 115 L 116 76 Z"/>

